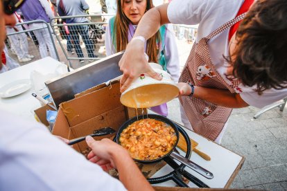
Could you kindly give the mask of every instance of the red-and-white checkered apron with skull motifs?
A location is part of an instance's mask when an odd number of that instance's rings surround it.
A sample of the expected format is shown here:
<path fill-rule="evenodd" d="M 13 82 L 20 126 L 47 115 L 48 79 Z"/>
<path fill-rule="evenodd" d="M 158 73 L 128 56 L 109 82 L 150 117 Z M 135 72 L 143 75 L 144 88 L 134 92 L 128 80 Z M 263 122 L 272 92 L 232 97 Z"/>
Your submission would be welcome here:
<path fill-rule="evenodd" d="M 200 39 L 197 44 L 193 44 L 179 82 L 191 82 L 198 87 L 228 89 L 231 93 L 236 93 L 236 88 L 238 88 L 240 82 L 233 79 L 232 83 L 228 84 L 223 80 L 211 62 L 207 43 L 210 39 L 243 19 L 244 16 L 245 13 L 228 21 L 207 37 Z M 182 96 L 180 102 L 195 133 L 210 140 L 216 140 L 232 112 L 230 108 L 189 96 Z"/>

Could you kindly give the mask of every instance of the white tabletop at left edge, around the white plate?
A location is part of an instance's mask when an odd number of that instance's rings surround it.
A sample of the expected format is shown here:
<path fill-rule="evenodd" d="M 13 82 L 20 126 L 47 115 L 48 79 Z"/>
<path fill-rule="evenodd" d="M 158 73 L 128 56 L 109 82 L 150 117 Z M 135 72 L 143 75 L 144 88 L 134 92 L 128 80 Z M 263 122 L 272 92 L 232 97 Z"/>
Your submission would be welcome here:
<path fill-rule="evenodd" d="M 45 57 L 17 69 L 1 73 L 0 87 L 15 80 L 30 79 L 31 72 L 34 70 L 42 73 L 43 75 L 55 73 L 55 70 L 60 65 L 64 64 L 51 57 Z M 41 107 L 41 104 L 36 98 L 31 96 L 31 93 L 34 92 L 35 90 L 32 87 L 18 96 L 14 96 L 12 98 L 0 98 L 0 109 L 9 111 L 10 113 L 15 113 L 17 116 L 21 116 L 29 120 L 35 120 L 34 110 Z"/>

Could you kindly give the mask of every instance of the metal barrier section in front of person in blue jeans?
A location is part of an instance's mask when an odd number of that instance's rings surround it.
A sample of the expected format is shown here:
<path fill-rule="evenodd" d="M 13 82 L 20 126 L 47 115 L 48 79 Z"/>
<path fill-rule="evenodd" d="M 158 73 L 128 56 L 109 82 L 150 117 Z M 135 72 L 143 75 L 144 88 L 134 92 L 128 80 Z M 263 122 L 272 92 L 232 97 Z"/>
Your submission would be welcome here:
<path fill-rule="evenodd" d="M 105 57 L 105 52 L 101 51 L 101 46 L 105 46 L 105 25 L 102 17 L 112 15 L 76 15 L 55 17 L 50 24 L 53 29 L 60 47 L 72 67 L 72 63 L 94 62 Z M 67 19 L 85 18 L 85 22 L 69 23 Z M 73 68 L 73 67 L 72 67 Z"/>

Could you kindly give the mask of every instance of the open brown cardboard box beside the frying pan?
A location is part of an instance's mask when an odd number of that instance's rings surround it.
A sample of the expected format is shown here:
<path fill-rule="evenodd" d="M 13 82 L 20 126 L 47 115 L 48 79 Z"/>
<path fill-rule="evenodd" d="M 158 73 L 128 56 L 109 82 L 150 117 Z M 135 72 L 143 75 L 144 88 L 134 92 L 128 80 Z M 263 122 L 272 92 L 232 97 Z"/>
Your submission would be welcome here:
<path fill-rule="evenodd" d="M 53 134 L 69 140 L 93 134 L 103 127 L 117 130 L 123 123 L 137 116 L 135 109 L 124 107 L 120 102 L 119 81 L 101 84 L 88 89 L 73 100 L 62 102 L 53 128 Z M 141 113 L 141 109 L 138 109 Z M 96 137 L 112 138 L 115 134 Z M 89 150 L 85 141 L 73 146 L 78 152 L 86 154 Z"/>

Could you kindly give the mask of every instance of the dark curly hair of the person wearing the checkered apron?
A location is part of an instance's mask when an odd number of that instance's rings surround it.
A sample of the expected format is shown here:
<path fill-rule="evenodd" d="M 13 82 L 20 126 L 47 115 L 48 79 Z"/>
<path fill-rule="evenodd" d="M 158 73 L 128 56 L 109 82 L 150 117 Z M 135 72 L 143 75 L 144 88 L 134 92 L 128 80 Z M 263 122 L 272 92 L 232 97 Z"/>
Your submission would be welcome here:
<path fill-rule="evenodd" d="M 241 82 L 266 89 L 287 87 L 287 0 L 258 0 L 236 31 L 234 54 L 225 57 Z M 232 57 L 232 60 L 231 60 Z"/>

